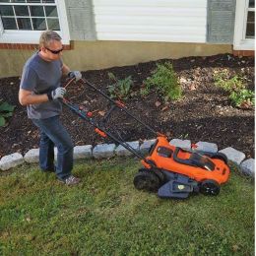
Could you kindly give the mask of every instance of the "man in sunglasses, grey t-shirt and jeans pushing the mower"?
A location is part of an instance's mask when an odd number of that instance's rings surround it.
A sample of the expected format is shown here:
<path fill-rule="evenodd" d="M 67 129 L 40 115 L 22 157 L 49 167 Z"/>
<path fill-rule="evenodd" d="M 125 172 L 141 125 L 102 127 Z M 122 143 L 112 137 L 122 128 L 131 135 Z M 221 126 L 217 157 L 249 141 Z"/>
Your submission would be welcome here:
<path fill-rule="evenodd" d="M 79 81 L 79 71 L 70 71 L 62 60 L 63 45 L 57 32 L 45 31 L 39 39 L 39 50 L 27 61 L 22 75 L 19 101 L 27 105 L 28 116 L 39 128 L 39 165 L 42 171 L 54 171 L 57 178 L 67 184 L 78 184 L 80 179 L 71 173 L 73 168 L 73 143 L 60 122 L 61 98 L 66 93 L 61 88 L 61 77 Z M 54 146 L 57 163 L 54 166 Z"/>

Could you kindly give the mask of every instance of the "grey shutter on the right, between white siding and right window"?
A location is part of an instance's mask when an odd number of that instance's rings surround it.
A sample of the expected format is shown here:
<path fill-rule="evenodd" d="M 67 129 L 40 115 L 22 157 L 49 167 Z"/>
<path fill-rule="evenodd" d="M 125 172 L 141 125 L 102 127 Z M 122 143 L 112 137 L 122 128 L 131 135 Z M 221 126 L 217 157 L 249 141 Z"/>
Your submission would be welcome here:
<path fill-rule="evenodd" d="M 232 44 L 234 15 L 235 0 L 208 0 L 207 42 Z"/>

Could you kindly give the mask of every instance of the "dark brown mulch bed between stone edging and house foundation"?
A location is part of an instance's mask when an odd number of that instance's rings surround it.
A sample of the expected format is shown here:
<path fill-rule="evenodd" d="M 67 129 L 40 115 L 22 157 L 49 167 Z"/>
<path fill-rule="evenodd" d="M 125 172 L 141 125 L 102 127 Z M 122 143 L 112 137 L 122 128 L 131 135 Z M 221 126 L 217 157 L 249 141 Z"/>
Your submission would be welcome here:
<path fill-rule="evenodd" d="M 160 60 L 159 62 L 164 62 Z M 156 61 L 134 66 L 114 67 L 105 70 L 84 72 L 84 77 L 98 89 L 107 92 L 111 84 L 107 73 L 118 79 L 132 76 L 133 94 L 125 100 L 128 109 L 156 131 L 169 138 L 189 139 L 193 143 L 206 141 L 216 143 L 219 150 L 233 147 L 254 158 L 254 109 L 232 107 L 228 96 L 213 83 L 215 71 L 226 70 L 231 75 L 243 76 L 254 90 L 254 58 L 238 58 L 230 55 L 211 57 L 188 57 L 169 60 L 180 78 L 183 97 L 178 101 L 164 103 L 160 95 L 152 92 L 142 97 L 139 90 L 143 80 L 156 68 Z M 26 107 L 18 101 L 20 80 L 17 77 L 0 80 L 0 98 L 15 104 L 14 116 L 9 125 L 0 128 L 0 157 L 15 152 L 25 154 L 38 148 L 38 131 L 27 117 Z M 96 120 L 106 113 L 107 102 L 89 87 L 70 85 L 67 98 L 79 102 L 94 112 Z M 62 120 L 71 134 L 75 145 L 103 143 L 93 127 L 64 107 Z M 123 112 L 112 112 L 108 123 L 110 130 L 119 131 L 126 141 L 154 138 L 154 135 L 127 118 Z M 109 143 L 109 140 L 106 140 Z"/>

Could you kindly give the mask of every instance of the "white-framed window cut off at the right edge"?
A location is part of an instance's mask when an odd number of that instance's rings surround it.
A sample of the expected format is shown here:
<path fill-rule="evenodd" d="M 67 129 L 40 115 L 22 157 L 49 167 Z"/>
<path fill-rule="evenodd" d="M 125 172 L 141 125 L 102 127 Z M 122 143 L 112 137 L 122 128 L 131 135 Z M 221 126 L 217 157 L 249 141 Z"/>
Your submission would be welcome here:
<path fill-rule="evenodd" d="M 236 1 L 233 48 L 254 50 L 255 0 Z"/>

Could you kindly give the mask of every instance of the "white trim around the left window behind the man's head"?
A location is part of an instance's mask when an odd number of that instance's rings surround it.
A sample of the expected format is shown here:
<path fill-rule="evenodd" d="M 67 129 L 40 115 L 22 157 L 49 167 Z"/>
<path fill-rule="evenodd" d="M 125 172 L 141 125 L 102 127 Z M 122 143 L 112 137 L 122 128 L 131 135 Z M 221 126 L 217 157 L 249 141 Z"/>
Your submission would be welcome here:
<path fill-rule="evenodd" d="M 60 36 L 63 44 L 70 43 L 66 6 L 64 0 L 56 0 L 56 7 L 59 16 Z M 4 31 L 0 23 L 0 43 L 32 43 L 37 44 L 40 31 Z"/>

